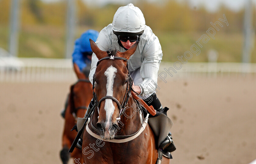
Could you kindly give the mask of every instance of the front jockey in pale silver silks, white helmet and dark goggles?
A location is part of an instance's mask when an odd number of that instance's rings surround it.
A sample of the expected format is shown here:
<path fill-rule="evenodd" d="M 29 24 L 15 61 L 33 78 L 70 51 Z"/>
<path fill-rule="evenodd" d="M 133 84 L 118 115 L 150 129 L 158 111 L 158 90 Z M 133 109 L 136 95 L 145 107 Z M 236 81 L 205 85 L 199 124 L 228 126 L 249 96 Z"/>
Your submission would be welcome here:
<path fill-rule="evenodd" d="M 134 82 L 133 90 L 139 93 L 138 97 L 143 99 L 147 105 L 152 105 L 159 112 L 163 108 L 155 94 L 155 89 L 157 88 L 158 69 L 163 54 L 157 36 L 150 27 L 145 25 L 145 18 L 140 9 L 131 3 L 118 8 L 113 22 L 101 30 L 95 43 L 102 51 L 115 47 L 118 51 L 125 52 L 137 41 L 139 41 L 137 49 L 128 60 Z M 91 83 L 97 62 L 98 58 L 93 53 L 89 75 Z M 85 117 L 88 117 L 93 104 L 94 101 L 91 101 Z M 81 141 L 78 141 L 77 146 L 81 147 Z M 176 150 L 171 133 L 159 148 L 166 149 L 168 152 Z"/>

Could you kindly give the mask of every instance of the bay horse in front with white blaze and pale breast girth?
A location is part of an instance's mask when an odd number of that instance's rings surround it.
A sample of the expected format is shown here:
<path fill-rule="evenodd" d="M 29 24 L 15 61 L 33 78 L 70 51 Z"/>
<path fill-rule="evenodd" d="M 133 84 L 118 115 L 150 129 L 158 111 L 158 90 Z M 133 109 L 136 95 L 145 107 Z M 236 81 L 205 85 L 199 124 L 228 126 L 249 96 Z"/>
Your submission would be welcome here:
<path fill-rule="evenodd" d="M 83 134 L 84 162 L 155 164 L 158 159 L 158 146 L 154 133 L 148 124 L 144 124 L 147 120 L 143 121 L 144 130 L 138 133 L 143 126 L 141 112 L 130 96 L 133 82 L 127 61 L 136 51 L 138 42 L 126 52 L 118 52 L 115 49 L 101 51 L 95 42 L 90 42 L 91 49 L 99 61 L 93 82 L 96 107 Z M 134 138 L 135 134 L 139 135 Z M 131 138 L 130 136 L 133 139 L 126 140 Z M 116 143 L 119 141 L 120 143 Z M 162 158 L 162 164 L 169 163 L 169 159 L 164 156 Z"/>

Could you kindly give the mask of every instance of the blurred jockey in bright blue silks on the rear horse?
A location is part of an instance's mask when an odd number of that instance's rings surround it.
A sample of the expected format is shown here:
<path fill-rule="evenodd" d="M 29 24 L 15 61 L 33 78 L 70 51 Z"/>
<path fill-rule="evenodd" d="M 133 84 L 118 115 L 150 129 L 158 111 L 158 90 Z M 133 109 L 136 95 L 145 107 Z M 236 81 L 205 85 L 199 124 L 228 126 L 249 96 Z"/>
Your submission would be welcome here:
<path fill-rule="evenodd" d="M 79 67 L 80 71 L 83 72 L 87 77 L 90 73 L 91 56 L 93 53 L 91 50 L 90 39 L 96 42 L 98 36 L 98 31 L 87 30 L 80 36 L 80 38 L 76 39 L 75 41 L 74 51 L 72 54 L 73 64 L 76 64 Z M 63 118 L 65 117 L 67 105 L 68 99 L 65 102 L 64 110 L 61 112 Z"/>

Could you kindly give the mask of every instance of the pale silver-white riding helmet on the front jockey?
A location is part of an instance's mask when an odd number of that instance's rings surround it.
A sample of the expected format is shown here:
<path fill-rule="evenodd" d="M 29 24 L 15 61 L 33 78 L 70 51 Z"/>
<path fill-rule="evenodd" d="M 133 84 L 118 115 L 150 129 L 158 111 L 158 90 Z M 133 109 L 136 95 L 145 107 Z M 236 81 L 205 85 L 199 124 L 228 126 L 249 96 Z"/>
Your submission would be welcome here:
<path fill-rule="evenodd" d="M 140 35 L 144 32 L 145 28 L 144 15 L 132 3 L 119 7 L 116 11 L 112 22 L 114 34 L 123 35 L 133 33 L 133 35 Z"/>

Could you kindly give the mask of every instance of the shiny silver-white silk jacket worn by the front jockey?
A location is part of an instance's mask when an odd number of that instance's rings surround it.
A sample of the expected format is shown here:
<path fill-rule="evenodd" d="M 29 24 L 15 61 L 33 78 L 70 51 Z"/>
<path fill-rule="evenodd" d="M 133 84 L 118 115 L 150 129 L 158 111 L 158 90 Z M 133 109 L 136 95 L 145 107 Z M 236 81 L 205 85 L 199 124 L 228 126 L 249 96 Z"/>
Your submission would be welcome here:
<path fill-rule="evenodd" d="M 125 52 L 125 49 L 118 44 L 117 36 L 112 31 L 112 23 L 101 30 L 95 43 L 102 51 L 107 51 L 109 48 L 114 47 L 120 52 Z M 140 36 L 140 42 L 135 53 L 128 60 L 130 73 L 140 68 L 143 82 L 139 85 L 144 90 L 142 95 L 152 94 L 155 91 L 162 56 L 162 48 L 157 36 L 155 36 L 150 27 L 146 26 L 144 33 Z M 89 75 L 91 83 L 93 82 L 97 62 L 98 58 L 93 53 Z"/>

